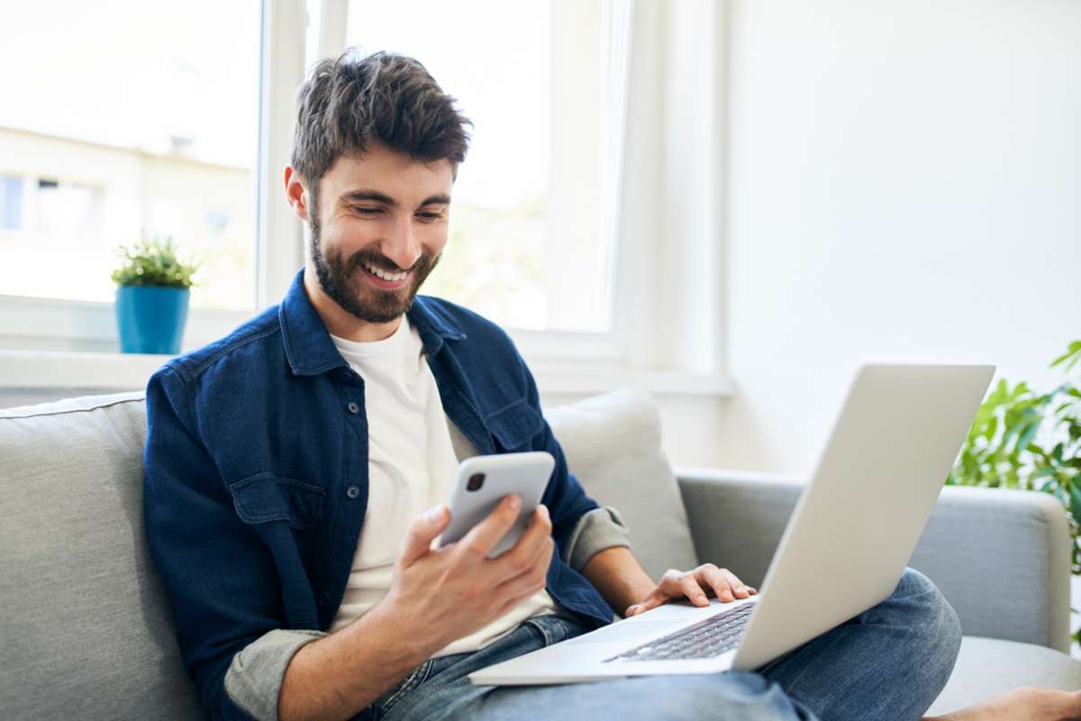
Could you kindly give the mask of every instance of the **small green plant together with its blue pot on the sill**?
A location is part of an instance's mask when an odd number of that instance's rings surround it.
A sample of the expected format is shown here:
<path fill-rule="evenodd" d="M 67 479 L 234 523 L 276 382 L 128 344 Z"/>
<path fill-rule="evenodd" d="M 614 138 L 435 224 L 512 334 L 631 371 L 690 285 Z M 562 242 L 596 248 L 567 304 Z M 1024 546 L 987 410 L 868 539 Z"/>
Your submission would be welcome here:
<path fill-rule="evenodd" d="M 181 262 L 172 238 L 164 241 L 144 238 L 119 252 L 123 263 L 112 271 L 112 281 L 118 285 L 116 311 L 121 352 L 179 352 L 191 275 L 198 264 Z"/>

